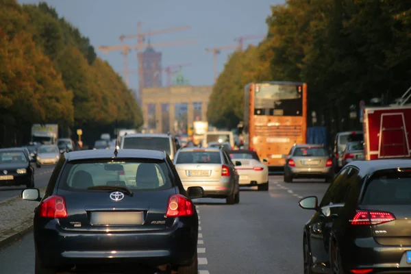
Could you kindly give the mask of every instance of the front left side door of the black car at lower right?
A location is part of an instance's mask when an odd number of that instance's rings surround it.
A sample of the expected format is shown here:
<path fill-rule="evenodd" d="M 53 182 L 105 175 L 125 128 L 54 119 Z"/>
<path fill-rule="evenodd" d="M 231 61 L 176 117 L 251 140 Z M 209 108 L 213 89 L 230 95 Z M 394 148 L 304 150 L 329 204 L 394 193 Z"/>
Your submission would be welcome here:
<path fill-rule="evenodd" d="M 348 171 L 349 168 L 343 169 L 334 182 L 330 184 L 321 200 L 319 210 L 308 224 L 308 238 L 314 266 L 329 266 L 329 233 L 332 229 L 333 220 L 344 206 L 343 201 L 347 189 L 345 180 Z"/>

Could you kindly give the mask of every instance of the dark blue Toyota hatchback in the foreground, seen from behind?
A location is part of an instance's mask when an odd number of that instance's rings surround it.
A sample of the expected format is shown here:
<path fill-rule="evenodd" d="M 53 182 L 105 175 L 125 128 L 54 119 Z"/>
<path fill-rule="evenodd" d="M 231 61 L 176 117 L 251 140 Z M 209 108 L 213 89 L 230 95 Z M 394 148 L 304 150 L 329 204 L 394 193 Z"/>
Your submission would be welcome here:
<path fill-rule="evenodd" d="M 35 188 L 22 193 L 40 201 L 35 273 L 197 274 L 198 216 L 191 199 L 202 196 L 202 188 L 184 190 L 164 151 L 64 153 L 44 197 Z"/>

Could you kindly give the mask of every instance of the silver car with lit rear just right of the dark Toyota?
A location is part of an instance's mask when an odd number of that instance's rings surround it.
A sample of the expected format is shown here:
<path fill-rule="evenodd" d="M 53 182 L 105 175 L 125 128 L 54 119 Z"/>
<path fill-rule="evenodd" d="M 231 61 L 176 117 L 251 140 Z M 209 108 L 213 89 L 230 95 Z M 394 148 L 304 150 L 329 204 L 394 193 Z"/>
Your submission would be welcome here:
<path fill-rule="evenodd" d="M 204 197 L 226 198 L 228 204 L 240 202 L 236 165 L 225 151 L 218 148 L 179 149 L 174 164 L 186 190 L 190 186 L 201 186 Z"/>

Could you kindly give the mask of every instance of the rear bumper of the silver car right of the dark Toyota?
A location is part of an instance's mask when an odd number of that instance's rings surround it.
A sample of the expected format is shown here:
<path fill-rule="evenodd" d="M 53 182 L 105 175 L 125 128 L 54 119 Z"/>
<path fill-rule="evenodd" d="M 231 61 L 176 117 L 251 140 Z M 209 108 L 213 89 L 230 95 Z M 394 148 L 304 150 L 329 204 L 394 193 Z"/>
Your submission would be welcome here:
<path fill-rule="evenodd" d="M 234 190 L 234 181 L 229 178 L 221 179 L 221 181 L 182 181 L 184 189 L 187 190 L 190 186 L 201 186 L 204 190 L 204 197 L 209 198 L 226 198 L 232 195 Z"/>

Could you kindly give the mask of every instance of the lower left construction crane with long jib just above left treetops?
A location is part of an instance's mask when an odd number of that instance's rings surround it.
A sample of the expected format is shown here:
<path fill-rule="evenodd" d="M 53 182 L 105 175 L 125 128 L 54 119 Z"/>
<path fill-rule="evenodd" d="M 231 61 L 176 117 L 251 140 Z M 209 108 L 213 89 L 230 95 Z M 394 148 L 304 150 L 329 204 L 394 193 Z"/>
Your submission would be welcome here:
<path fill-rule="evenodd" d="M 128 62 L 127 62 L 127 54 L 129 51 L 132 49 L 147 49 L 147 47 L 173 47 L 173 46 L 181 46 L 181 45 L 192 45 L 192 44 L 197 44 L 197 40 L 186 40 L 186 41 L 175 41 L 175 42 L 165 42 L 165 43 L 147 43 L 143 45 L 116 45 L 116 46 L 100 46 L 97 47 L 100 51 L 103 51 L 104 53 L 108 53 L 110 51 L 121 51 L 121 55 L 123 55 L 123 73 L 124 73 L 124 79 L 125 83 L 128 84 L 128 75 L 129 75 L 129 70 L 128 70 Z M 142 66 L 141 66 L 142 67 Z M 140 73 L 139 73 L 140 74 Z M 139 79 L 139 82 L 141 82 L 141 78 Z"/>

